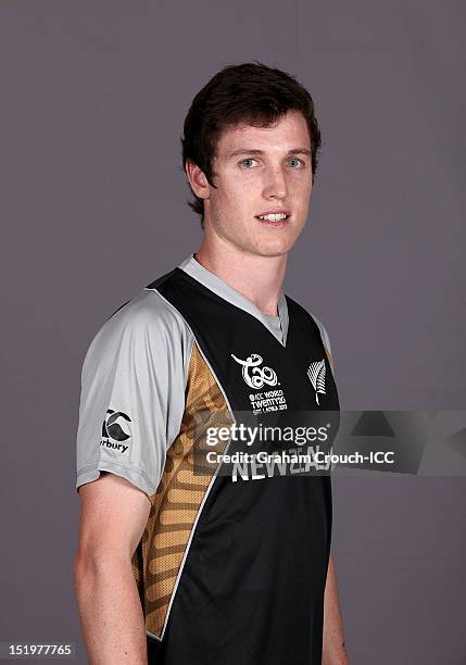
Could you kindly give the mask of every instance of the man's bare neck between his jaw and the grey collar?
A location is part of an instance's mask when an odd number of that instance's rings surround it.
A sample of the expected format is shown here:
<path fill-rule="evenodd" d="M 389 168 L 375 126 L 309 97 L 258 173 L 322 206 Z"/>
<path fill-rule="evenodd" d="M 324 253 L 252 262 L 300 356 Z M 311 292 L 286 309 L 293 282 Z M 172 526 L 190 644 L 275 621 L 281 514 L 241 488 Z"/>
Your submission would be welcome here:
<path fill-rule="evenodd" d="M 278 297 L 285 279 L 287 255 L 259 256 L 239 251 L 226 242 L 212 248 L 205 238 L 196 259 L 207 271 L 248 298 L 268 316 L 278 313 Z"/>

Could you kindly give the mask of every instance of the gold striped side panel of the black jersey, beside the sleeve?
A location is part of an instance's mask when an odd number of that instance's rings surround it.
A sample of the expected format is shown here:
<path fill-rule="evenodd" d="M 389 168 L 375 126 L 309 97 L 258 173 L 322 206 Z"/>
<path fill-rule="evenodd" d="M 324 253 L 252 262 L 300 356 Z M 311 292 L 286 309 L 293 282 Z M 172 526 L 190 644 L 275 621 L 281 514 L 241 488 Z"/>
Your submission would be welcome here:
<path fill-rule="evenodd" d="M 229 427 L 225 398 L 196 343 L 189 363 L 186 405 L 179 434 L 166 453 L 149 519 L 133 556 L 133 572 L 147 630 L 161 637 L 176 579 L 206 489 L 215 473 L 196 451 L 206 451 L 209 427 Z M 225 442 L 214 447 L 223 452 Z M 211 449 L 211 448 L 209 448 Z"/>

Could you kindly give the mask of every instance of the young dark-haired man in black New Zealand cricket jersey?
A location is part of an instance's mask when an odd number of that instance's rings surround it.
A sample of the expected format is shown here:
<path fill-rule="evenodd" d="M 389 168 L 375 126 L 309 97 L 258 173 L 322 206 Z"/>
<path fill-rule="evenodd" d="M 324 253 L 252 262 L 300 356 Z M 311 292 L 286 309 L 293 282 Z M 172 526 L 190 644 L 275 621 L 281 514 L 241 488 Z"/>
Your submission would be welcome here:
<path fill-rule="evenodd" d="M 90 663 L 348 663 L 328 475 L 196 468 L 207 434 L 241 414 L 339 410 L 326 330 L 281 290 L 319 143 L 308 92 L 260 63 L 225 67 L 192 102 L 184 166 L 202 243 L 105 322 L 83 366 Z"/>

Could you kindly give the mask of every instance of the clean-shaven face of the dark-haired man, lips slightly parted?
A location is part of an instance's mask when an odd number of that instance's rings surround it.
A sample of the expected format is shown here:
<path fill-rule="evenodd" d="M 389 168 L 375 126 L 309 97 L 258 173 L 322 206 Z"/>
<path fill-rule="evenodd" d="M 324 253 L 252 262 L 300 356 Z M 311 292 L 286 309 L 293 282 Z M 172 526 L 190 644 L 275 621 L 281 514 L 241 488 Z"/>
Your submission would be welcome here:
<path fill-rule="evenodd" d="M 311 139 L 304 116 L 289 111 L 270 127 L 237 125 L 217 142 L 204 224 L 242 252 L 286 254 L 303 229 L 312 191 Z M 287 218 L 261 218 L 285 212 Z"/>

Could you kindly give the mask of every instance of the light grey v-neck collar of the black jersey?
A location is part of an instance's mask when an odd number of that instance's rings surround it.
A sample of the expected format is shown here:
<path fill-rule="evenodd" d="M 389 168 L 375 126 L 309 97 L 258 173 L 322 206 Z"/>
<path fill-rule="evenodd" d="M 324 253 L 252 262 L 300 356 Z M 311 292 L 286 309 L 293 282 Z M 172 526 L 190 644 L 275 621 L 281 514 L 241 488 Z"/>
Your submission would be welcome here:
<path fill-rule="evenodd" d="M 275 337 L 275 339 L 282 346 L 287 344 L 288 337 L 288 305 L 287 299 L 285 297 L 284 291 L 280 289 L 278 296 L 278 316 L 280 317 L 281 330 L 282 330 L 282 340 L 277 336 L 276 331 L 270 325 L 270 322 L 267 319 L 267 316 L 261 312 L 261 310 L 251 302 L 248 298 L 245 298 L 242 293 L 234 289 L 226 281 L 224 281 L 218 275 L 215 273 L 211 273 L 203 265 L 199 263 L 194 259 L 194 254 L 190 254 L 182 263 L 178 265 L 179 268 L 185 271 L 188 275 L 203 284 L 207 289 L 226 300 L 227 302 L 234 304 L 237 308 L 240 308 L 244 312 L 248 312 L 257 321 L 260 321 L 269 332 Z"/>

